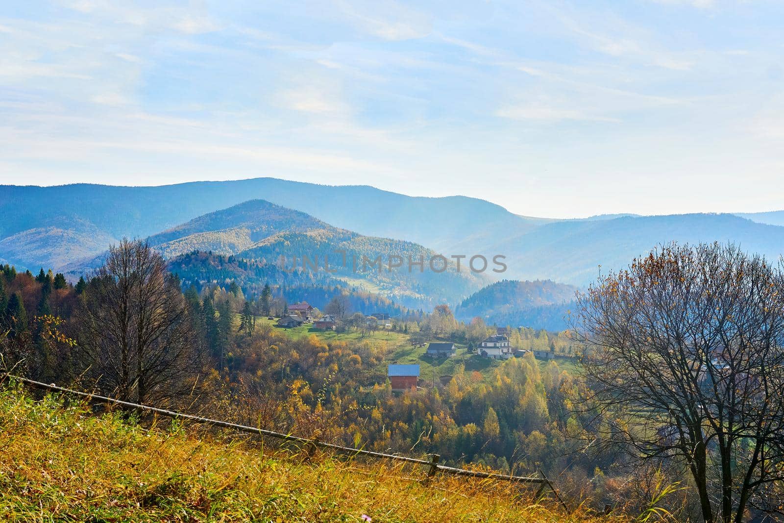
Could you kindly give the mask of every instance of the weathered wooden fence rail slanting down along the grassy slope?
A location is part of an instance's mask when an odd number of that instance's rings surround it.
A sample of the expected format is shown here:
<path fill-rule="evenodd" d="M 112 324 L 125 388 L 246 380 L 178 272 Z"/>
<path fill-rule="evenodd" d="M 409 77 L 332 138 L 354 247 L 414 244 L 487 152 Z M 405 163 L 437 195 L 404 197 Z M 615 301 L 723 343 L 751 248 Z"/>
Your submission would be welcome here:
<path fill-rule="evenodd" d="M 544 473 L 541 470 L 539 470 L 539 478 L 533 478 L 527 476 L 510 476 L 506 474 L 495 474 L 492 472 L 481 472 L 479 470 L 465 470 L 465 469 L 459 469 L 455 467 L 447 467 L 445 465 L 441 465 L 438 463 L 439 460 L 441 459 L 441 456 L 438 456 L 437 454 L 430 454 L 429 455 L 430 459 L 417 459 L 408 456 L 400 456 L 399 454 L 387 454 L 384 452 L 372 452 L 365 449 L 353 449 L 351 447 L 343 447 L 342 445 L 325 443 L 324 441 L 318 441 L 318 439 L 298 438 L 296 436 L 292 436 L 291 434 L 282 434 L 280 432 L 274 432 L 272 430 L 265 430 L 257 427 L 248 427 L 246 425 L 240 425 L 238 423 L 229 423 L 227 421 L 221 421 L 220 419 L 202 418 L 200 416 L 193 416 L 191 414 L 183 414 L 182 412 L 174 412 L 166 409 L 158 409 L 157 407 L 150 407 L 148 405 L 139 405 L 136 403 L 130 403 L 129 401 L 121 401 L 114 398 L 107 398 L 106 396 L 100 396 L 98 394 L 90 394 L 88 392 L 81 392 L 79 390 L 67 389 L 65 387 L 57 387 L 54 384 L 28 380 L 27 378 L 23 378 L 21 376 L 13 376 L 12 374 L 0 375 L 0 383 L 2 383 L 2 381 L 5 380 L 5 378 L 10 378 L 20 383 L 24 383 L 28 387 L 33 387 L 41 390 L 51 390 L 53 392 L 60 392 L 63 394 L 71 394 L 72 396 L 85 398 L 89 401 L 103 401 L 111 405 L 120 405 L 128 409 L 155 412 L 156 414 L 159 414 L 161 416 L 166 416 L 172 419 L 187 419 L 193 421 L 194 423 L 199 423 L 202 425 L 212 425 L 212 427 L 222 427 L 231 430 L 238 430 L 239 432 L 245 432 L 249 434 L 260 434 L 262 436 L 267 436 L 269 438 L 277 438 L 284 441 L 295 441 L 297 443 L 302 443 L 303 445 L 308 445 L 309 448 L 315 446 L 315 447 L 321 447 L 323 449 L 330 449 L 334 452 L 342 454 L 343 456 L 352 456 L 352 457 L 369 456 L 378 459 L 391 459 L 394 461 L 404 461 L 407 463 L 416 463 L 418 465 L 425 465 L 427 467 L 430 467 L 427 471 L 428 477 L 432 477 L 434 474 L 436 474 L 436 472 L 443 472 L 445 474 L 454 474 L 457 476 L 470 476 L 472 478 L 488 478 L 488 479 L 499 480 L 499 481 L 534 483 L 539 485 L 537 496 L 539 496 L 543 492 L 544 488 L 550 488 L 550 491 L 554 493 L 554 496 L 556 497 L 558 502 L 561 503 L 561 505 L 563 505 L 564 508 L 567 508 L 566 504 L 561 499 L 561 496 L 558 496 L 558 492 L 555 490 L 552 483 L 550 483 L 550 480 L 547 479 L 547 477 L 544 475 Z"/>

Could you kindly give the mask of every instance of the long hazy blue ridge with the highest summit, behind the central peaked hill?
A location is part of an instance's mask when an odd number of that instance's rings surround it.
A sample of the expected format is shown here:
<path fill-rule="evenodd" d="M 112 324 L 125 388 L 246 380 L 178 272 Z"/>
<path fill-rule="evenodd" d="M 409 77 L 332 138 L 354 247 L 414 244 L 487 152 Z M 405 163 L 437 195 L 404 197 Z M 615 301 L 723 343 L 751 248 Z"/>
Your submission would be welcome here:
<path fill-rule="evenodd" d="M 461 245 L 466 238 L 474 238 L 472 245 L 484 242 L 488 227 L 519 232 L 541 221 L 465 196 L 412 197 L 369 186 L 329 186 L 275 178 L 159 187 L 4 185 L 0 186 L 0 239 L 74 220 L 85 227 L 98 227 L 111 238 L 147 237 L 257 198 L 307 212 L 359 234 L 401 238 L 438 251 Z M 77 225 L 74 227 L 82 232 Z M 72 261 L 68 256 L 59 260 L 61 265 Z"/>

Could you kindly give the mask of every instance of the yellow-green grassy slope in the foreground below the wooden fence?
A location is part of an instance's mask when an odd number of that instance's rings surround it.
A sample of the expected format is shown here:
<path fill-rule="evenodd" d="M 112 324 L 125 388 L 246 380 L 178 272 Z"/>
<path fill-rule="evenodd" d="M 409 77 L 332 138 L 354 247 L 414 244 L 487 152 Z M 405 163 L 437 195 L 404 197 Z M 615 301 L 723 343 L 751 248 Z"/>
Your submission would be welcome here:
<path fill-rule="evenodd" d="M 592 521 L 503 482 L 146 430 L 0 388 L 0 518 L 10 521 Z M 601 518 L 593 521 L 622 521 Z"/>

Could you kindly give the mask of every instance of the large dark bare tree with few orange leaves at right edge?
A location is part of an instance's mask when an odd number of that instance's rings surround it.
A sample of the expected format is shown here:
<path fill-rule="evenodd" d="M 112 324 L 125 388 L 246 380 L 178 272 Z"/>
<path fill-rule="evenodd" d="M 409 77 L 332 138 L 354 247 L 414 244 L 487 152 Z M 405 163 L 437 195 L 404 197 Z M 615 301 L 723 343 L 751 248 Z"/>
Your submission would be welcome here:
<path fill-rule="evenodd" d="M 601 441 L 688 471 L 704 521 L 784 480 L 784 274 L 735 246 L 675 244 L 579 299 Z"/>

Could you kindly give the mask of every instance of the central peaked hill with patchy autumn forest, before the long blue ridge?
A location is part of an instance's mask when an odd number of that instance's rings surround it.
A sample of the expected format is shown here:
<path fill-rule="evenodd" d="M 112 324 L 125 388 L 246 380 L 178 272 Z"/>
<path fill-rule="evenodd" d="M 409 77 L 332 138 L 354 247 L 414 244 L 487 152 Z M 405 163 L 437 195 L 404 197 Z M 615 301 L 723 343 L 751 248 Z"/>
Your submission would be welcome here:
<path fill-rule="evenodd" d="M 460 300 L 487 283 L 485 278 L 469 271 L 438 273 L 427 266 L 424 271 L 408 271 L 407 264 L 390 270 L 390 256 L 401 256 L 403 260 L 409 257 L 430 260 L 435 252 L 413 242 L 365 236 L 332 227 L 304 212 L 264 200 L 251 200 L 198 216 L 154 234 L 148 242 L 167 258 L 179 256 L 172 263 L 183 274 L 189 272 L 181 265 L 187 253 L 213 252 L 260 262 L 262 269 L 255 273 L 255 279 L 243 275 L 246 285 L 263 284 L 266 279 L 278 278 L 281 273 L 311 272 L 314 273 L 311 279 L 318 280 L 320 285 L 341 278 L 347 283 L 353 281 L 354 285 L 357 280 L 365 281 L 376 292 L 407 303 L 409 307 Z M 303 256 L 310 261 L 307 267 Z M 378 256 L 384 267 L 372 265 Z M 329 264 L 329 271 L 325 270 L 325 263 Z M 296 271 L 292 271 L 294 268 Z"/>

